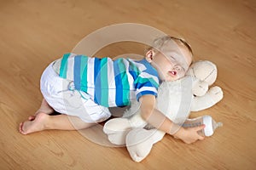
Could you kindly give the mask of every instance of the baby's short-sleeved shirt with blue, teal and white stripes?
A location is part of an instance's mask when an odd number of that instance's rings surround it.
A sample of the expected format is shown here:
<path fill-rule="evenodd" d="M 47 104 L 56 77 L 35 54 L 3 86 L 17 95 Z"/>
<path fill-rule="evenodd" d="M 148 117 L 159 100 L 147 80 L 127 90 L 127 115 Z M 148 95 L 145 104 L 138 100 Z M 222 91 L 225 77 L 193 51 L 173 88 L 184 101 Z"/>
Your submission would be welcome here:
<path fill-rule="evenodd" d="M 131 99 L 157 95 L 159 76 L 146 59 L 90 58 L 64 54 L 60 77 L 73 81 L 74 88 L 90 94 L 96 104 L 113 107 L 130 105 Z"/>

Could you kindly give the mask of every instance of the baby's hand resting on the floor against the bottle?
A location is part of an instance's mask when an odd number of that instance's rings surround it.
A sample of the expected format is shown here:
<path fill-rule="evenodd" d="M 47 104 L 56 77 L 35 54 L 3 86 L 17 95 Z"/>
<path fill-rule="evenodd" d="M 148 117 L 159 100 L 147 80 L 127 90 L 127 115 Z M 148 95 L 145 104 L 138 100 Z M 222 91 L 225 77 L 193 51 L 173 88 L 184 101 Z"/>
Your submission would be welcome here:
<path fill-rule="evenodd" d="M 196 140 L 203 140 L 205 139 L 201 135 L 199 135 L 197 132 L 202 130 L 205 125 L 201 125 L 199 127 L 189 127 L 189 128 L 183 128 L 181 127 L 177 133 L 175 133 L 173 136 L 177 139 L 182 139 L 184 143 L 186 144 L 192 144 Z"/>

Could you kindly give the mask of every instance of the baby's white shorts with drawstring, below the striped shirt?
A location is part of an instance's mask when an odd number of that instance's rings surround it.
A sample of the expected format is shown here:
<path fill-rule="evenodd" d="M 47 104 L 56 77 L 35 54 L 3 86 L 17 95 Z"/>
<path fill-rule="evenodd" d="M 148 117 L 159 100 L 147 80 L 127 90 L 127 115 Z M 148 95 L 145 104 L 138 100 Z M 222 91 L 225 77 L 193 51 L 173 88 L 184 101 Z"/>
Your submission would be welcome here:
<path fill-rule="evenodd" d="M 63 79 L 50 64 L 41 77 L 40 88 L 44 99 L 57 112 L 68 116 L 79 116 L 84 122 L 102 122 L 111 114 L 107 107 L 97 105 L 89 94 L 70 90 L 73 82 Z"/>

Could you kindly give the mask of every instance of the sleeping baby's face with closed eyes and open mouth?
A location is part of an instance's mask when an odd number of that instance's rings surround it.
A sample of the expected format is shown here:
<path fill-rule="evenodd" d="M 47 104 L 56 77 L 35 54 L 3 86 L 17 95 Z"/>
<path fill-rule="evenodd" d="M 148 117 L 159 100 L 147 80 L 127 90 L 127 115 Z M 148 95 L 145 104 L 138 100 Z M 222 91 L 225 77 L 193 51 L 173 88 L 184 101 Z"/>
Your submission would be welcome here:
<path fill-rule="evenodd" d="M 171 82 L 185 76 L 192 62 L 188 48 L 178 45 L 178 50 L 165 49 L 156 52 L 151 65 L 158 71 L 161 81 Z"/>

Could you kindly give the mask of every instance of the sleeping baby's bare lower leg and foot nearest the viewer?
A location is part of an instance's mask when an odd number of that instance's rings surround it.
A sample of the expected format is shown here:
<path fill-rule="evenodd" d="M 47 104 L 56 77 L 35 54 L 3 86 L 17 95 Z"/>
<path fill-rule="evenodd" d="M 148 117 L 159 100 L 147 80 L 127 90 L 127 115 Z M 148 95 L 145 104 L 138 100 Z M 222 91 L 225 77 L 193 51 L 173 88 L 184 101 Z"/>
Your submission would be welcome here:
<path fill-rule="evenodd" d="M 28 134 L 48 129 L 79 130 L 92 125 L 95 125 L 95 123 L 83 122 L 77 116 L 67 116 L 64 114 L 49 116 L 44 112 L 39 112 L 34 119 L 20 123 L 20 133 Z"/>

